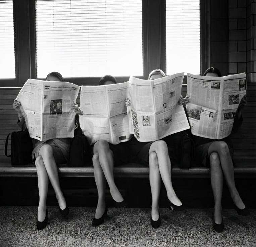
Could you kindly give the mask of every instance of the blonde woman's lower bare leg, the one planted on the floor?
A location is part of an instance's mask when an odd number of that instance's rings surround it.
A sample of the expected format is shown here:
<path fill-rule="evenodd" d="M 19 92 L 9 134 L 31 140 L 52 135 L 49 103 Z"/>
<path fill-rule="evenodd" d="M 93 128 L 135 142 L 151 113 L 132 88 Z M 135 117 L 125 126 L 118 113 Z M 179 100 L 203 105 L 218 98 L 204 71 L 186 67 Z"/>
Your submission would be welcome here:
<path fill-rule="evenodd" d="M 152 194 L 151 217 L 154 221 L 159 218 L 159 195 L 161 188 L 161 176 L 158 168 L 158 160 L 155 152 L 149 154 L 149 182 Z"/>

